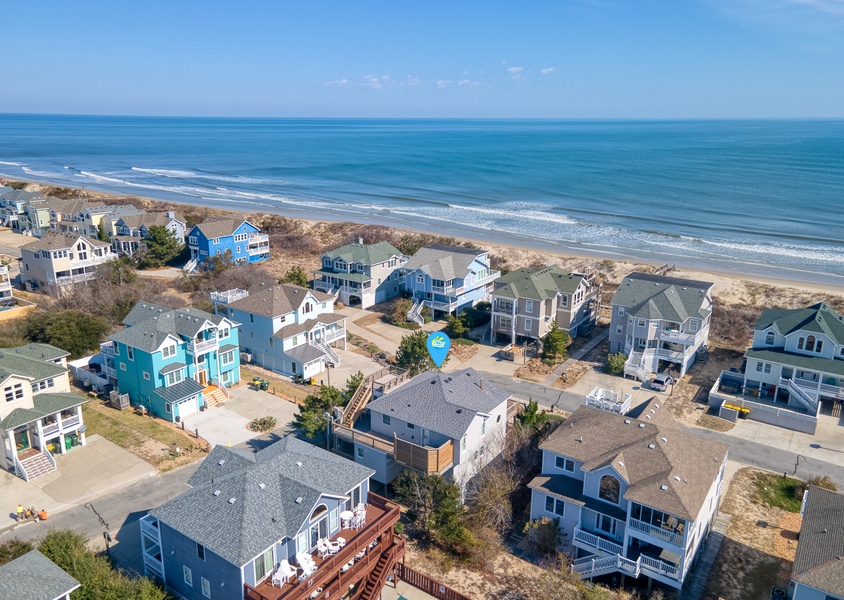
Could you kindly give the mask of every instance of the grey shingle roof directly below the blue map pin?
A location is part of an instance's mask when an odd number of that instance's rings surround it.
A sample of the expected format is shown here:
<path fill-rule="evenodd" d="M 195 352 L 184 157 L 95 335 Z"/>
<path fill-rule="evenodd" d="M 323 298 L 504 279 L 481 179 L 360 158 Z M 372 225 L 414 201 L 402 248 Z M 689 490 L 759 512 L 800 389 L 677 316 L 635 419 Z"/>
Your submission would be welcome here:
<path fill-rule="evenodd" d="M 453 373 L 422 373 L 371 401 L 368 407 L 459 440 L 477 414 L 490 414 L 509 397 L 509 392 L 497 390 L 469 368 Z"/>

